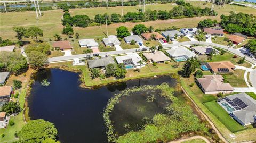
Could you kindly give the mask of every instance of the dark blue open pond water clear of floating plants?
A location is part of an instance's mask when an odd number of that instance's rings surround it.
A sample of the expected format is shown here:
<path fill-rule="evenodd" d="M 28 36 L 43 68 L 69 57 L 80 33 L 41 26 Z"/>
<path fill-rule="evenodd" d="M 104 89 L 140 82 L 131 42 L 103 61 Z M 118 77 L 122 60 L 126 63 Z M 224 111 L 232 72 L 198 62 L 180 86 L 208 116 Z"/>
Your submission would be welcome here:
<path fill-rule="evenodd" d="M 98 89 L 79 87 L 79 74 L 60 69 L 39 72 L 28 97 L 31 119 L 54 123 L 59 140 L 63 142 L 107 142 L 102 117 L 108 99 L 126 88 L 139 85 L 176 85 L 170 76 L 130 80 Z M 49 86 L 41 86 L 43 79 Z M 131 105 L 132 106 L 132 105 Z"/>

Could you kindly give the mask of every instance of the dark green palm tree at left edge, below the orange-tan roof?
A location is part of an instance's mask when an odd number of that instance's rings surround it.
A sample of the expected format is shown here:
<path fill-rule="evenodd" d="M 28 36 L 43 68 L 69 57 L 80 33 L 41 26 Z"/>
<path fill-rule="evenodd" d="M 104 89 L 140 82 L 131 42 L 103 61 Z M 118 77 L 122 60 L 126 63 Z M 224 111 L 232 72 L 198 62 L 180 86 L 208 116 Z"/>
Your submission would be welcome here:
<path fill-rule="evenodd" d="M 15 114 L 18 114 L 22 111 L 22 109 L 20 108 L 20 104 L 18 102 L 6 102 L 3 104 L 1 111 L 6 112 L 7 115 L 11 115 L 13 114 L 15 116 Z"/>

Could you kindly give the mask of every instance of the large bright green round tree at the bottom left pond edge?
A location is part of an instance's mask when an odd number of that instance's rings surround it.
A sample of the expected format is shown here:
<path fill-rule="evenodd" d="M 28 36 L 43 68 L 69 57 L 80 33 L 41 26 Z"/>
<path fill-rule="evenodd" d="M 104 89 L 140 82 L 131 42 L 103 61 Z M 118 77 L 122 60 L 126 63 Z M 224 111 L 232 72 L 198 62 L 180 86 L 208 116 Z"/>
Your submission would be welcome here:
<path fill-rule="evenodd" d="M 18 132 L 20 142 L 43 142 L 46 139 L 56 140 L 57 129 L 54 124 L 43 119 L 31 120 Z M 47 141 L 47 140 L 46 140 Z"/>

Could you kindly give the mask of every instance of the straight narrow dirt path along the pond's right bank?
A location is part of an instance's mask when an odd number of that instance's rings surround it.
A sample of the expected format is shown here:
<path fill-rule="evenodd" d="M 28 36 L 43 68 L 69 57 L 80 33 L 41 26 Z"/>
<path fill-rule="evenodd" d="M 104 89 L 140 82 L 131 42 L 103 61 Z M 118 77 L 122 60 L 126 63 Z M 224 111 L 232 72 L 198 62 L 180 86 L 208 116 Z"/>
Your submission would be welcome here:
<path fill-rule="evenodd" d="M 220 131 L 215 127 L 215 125 L 213 124 L 213 122 L 209 119 L 209 117 L 197 106 L 197 104 L 194 102 L 194 100 L 187 94 L 187 92 L 183 89 L 183 87 L 181 86 L 182 91 L 185 93 L 185 95 L 192 101 L 192 103 L 195 105 L 195 107 L 197 108 L 197 110 L 205 117 L 205 119 L 211 124 L 213 130 L 218 134 L 219 138 L 225 142 L 228 143 L 228 141 L 222 136 L 222 134 L 220 133 Z"/>

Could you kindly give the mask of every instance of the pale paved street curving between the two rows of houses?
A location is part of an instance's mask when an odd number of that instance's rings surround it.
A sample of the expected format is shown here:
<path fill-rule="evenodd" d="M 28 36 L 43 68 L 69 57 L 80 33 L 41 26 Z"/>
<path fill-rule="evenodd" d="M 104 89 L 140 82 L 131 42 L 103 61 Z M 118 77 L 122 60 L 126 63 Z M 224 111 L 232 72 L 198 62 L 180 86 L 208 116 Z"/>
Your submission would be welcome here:
<path fill-rule="evenodd" d="M 183 45 L 193 45 L 193 44 L 198 44 L 198 41 L 185 41 L 185 42 L 181 42 L 181 43 L 174 43 L 174 44 L 166 44 L 163 45 L 163 48 L 171 48 L 173 46 L 183 46 Z M 207 42 L 203 42 L 201 41 L 200 44 L 202 45 L 210 45 L 210 46 L 215 46 L 215 47 L 219 47 L 222 49 L 227 49 L 227 46 L 224 45 L 220 45 L 220 44 L 215 44 L 215 43 L 207 43 Z M 147 50 L 149 50 L 149 47 L 146 47 Z M 124 49 L 123 51 L 109 51 L 109 52 L 101 52 L 98 53 L 100 56 L 105 56 L 105 55 L 118 55 L 118 54 L 125 54 L 125 53 L 130 53 L 130 52 L 135 52 L 136 49 Z M 229 48 L 229 51 L 231 53 L 234 53 L 238 56 L 241 57 L 246 57 L 245 59 L 253 64 L 256 64 L 256 60 L 253 60 L 252 58 L 250 58 L 249 56 L 246 56 L 244 54 L 242 54 L 241 52 L 239 52 L 236 49 L 233 48 Z M 49 58 L 48 61 L 49 63 L 51 62 L 58 62 L 58 61 L 67 61 L 67 60 L 72 60 L 74 58 L 83 58 L 85 57 L 85 54 L 81 54 L 81 55 L 72 55 L 72 56 L 60 56 L 60 57 L 52 57 Z"/>

